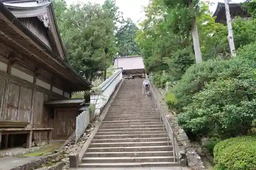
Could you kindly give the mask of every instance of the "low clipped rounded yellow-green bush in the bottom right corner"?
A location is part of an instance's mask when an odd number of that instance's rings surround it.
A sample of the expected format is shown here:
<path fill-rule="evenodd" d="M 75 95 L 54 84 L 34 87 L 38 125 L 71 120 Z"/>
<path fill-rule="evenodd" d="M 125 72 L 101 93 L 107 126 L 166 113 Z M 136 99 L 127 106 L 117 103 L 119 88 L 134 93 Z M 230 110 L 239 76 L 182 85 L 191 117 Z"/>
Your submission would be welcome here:
<path fill-rule="evenodd" d="M 215 170 L 255 170 L 256 136 L 226 139 L 214 148 Z"/>

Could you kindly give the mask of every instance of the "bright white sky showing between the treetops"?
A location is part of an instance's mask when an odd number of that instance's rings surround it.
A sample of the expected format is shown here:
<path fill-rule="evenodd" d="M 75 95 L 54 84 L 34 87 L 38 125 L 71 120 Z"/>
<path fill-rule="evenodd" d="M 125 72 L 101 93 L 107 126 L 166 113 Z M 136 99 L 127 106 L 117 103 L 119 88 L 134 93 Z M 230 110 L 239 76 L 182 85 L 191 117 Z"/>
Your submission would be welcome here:
<path fill-rule="evenodd" d="M 202 0 L 205 1 L 205 0 Z M 214 3 L 210 7 L 210 11 L 214 12 L 216 10 L 218 2 L 224 2 L 223 0 L 209 0 L 211 3 Z M 104 0 L 66 0 L 67 4 L 73 3 L 97 3 L 103 4 Z M 232 0 L 231 3 L 240 3 L 243 0 Z M 120 11 L 123 12 L 124 18 L 131 18 L 136 24 L 138 21 L 141 21 L 145 18 L 143 12 L 143 6 L 147 6 L 149 0 L 116 0 L 116 5 L 119 7 Z"/>

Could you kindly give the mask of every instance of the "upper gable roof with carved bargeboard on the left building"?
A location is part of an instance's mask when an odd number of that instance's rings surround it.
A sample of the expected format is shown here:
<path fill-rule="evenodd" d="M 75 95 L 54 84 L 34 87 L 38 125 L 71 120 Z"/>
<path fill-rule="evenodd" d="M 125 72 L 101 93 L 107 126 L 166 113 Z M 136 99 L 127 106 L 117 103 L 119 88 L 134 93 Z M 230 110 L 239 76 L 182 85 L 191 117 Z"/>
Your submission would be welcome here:
<path fill-rule="evenodd" d="M 57 48 L 57 55 L 67 61 L 63 44 L 59 35 L 53 5 L 50 0 L 2 0 L 4 5 L 16 18 L 38 17 L 49 28 L 52 43 Z M 56 52 L 55 52 L 56 53 Z"/>

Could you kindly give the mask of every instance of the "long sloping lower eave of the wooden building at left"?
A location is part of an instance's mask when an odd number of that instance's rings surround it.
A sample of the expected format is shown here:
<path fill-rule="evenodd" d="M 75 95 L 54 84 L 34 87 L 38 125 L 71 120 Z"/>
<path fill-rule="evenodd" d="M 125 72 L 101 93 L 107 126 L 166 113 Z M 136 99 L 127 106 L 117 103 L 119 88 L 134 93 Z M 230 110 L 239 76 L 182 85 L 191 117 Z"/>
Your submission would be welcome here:
<path fill-rule="evenodd" d="M 33 59 L 39 65 L 46 66 L 44 68 L 50 69 L 61 78 L 72 82 L 71 88 L 73 91 L 90 89 L 90 82 L 71 68 L 67 61 L 58 57 L 53 50 L 26 28 L 4 3 L 0 1 L 0 41 L 2 40 L 4 42 L 10 42 L 7 45 L 10 45 L 13 50 L 22 51 L 22 54 L 23 52 L 24 54 L 26 53 L 26 57 L 29 59 Z"/>

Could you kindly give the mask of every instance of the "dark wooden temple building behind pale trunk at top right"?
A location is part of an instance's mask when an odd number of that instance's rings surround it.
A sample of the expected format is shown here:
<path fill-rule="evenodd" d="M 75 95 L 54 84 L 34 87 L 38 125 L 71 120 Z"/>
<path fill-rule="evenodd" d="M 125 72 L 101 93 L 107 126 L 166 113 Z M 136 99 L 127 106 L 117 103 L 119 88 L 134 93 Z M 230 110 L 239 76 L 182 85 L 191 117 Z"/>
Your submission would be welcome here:
<path fill-rule="evenodd" d="M 240 16 L 243 19 L 250 19 L 250 14 L 245 8 L 242 7 L 241 3 L 229 3 L 229 11 L 231 19 L 234 19 L 237 16 Z M 216 17 L 215 22 L 223 23 L 226 25 L 227 19 L 225 4 L 219 2 L 217 9 L 212 16 Z"/>

